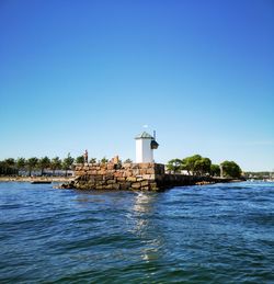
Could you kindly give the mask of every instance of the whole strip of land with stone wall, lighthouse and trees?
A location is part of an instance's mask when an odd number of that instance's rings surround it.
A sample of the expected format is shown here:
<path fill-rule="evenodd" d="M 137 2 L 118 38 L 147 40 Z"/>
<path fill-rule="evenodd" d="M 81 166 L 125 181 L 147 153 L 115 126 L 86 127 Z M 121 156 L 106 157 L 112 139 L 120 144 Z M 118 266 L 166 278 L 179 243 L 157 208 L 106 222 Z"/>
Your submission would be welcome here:
<path fill-rule="evenodd" d="M 159 147 L 156 133 L 151 136 L 142 132 L 135 140 L 136 162 L 130 159 L 122 162 L 118 156 L 111 160 L 89 160 L 88 150 L 76 159 L 70 154 L 64 160 L 58 157 L 19 158 L 16 161 L 10 158 L 0 162 L 0 180 L 34 184 L 62 182 L 57 186 L 60 189 L 141 191 L 244 180 L 236 162 L 213 164 L 209 158 L 201 155 L 171 159 L 167 164 L 155 162 L 153 151 Z"/>

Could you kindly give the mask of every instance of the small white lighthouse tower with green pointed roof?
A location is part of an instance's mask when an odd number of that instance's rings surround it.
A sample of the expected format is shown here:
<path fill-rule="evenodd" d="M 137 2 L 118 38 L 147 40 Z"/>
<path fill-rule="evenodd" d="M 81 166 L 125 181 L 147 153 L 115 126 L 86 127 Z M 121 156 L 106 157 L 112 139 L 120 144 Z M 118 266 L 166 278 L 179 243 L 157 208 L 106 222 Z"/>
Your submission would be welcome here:
<path fill-rule="evenodd" d="M 153 162 L 153 149 L 157 149 L 159 144 L 156 137 L 144 132 L 135 137 L 136 140 L 136 162 Z"/>

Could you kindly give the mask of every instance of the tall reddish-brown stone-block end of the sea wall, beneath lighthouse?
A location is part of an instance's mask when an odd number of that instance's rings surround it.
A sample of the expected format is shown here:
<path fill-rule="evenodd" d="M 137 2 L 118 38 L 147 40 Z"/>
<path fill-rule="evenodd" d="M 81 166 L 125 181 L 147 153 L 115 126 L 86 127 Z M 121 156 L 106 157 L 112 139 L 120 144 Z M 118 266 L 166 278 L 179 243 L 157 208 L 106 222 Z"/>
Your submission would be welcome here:
<path fill-rule="evenodd" d="M 76 179 L 68 188 L 78 190 L 160 191 L 164 164 L 160 163 L 85 163 L 76 164 Z"/>

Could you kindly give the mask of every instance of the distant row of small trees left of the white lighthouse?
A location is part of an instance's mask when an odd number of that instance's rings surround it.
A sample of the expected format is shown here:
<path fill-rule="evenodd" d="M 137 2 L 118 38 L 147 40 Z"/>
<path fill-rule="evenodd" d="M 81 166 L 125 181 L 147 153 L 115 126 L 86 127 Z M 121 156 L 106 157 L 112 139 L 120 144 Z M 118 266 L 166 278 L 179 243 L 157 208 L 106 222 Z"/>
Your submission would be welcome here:
<path fill-rule="evenodd" d="M 91 158 L 89 160 L 90 163 L 94 162 L 107 162 L 109 159 L 105 157 L 98 160 L 96 158 Z M 130 159 L 126 159 L 124 162 L 133 162 Z M 65 171 L 65 175 L 67 175 L 68 170 L 73 169 L 73 163 L 84 163 L 84 157 L 71 157 L 70 154 L 67 155 L 66 158 L 60 159 L 59 157 L 48 158 L 47 156 L 37 158 L 8 158 L 0 161 L 0 174 L 1 175 L 11 175 L 19 174 L 20 171 L 25 171 L 31 177 L 34 170 L 39 170 L 41 175 L 45 174 L 45 170 L 52 170 L 53 175 L 55 175 L 57 170 Z"/>

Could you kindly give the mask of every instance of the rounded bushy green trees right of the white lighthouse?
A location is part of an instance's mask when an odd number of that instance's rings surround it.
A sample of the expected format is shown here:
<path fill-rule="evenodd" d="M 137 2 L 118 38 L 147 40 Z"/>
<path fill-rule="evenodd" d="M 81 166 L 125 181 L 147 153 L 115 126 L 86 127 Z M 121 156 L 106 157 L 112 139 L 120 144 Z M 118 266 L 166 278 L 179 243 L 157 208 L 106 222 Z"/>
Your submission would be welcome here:
<path fill-rule="evenodd" d="M 224 178 L 240 178 L 241 168 L 235 161 L 224 161 L 220 164 L 212 163 L 212 160 L 201 155 L 194 155 L 184 159 L 172 159 L 167 169 L 173 173 L 183 171 L 192 175 L 212 175 Z"/>

